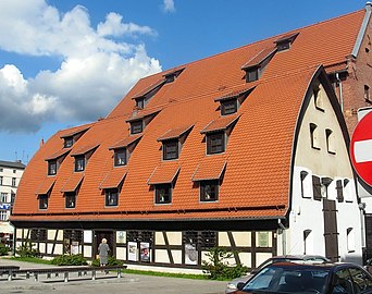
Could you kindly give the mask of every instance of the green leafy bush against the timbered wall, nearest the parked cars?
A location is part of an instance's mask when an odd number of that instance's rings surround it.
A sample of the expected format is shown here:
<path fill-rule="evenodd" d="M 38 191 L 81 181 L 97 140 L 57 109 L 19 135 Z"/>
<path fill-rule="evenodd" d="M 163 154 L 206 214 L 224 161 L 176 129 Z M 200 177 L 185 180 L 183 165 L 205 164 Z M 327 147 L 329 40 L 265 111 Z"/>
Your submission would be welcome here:
<path fill-rule="evenodd" d="M 241 265 L 231 266 L 228 259 L 234 257 L 234 253 L 227 252 L 223 247 L 213 247 L 207 254 L 208 261 L 202 261 L 203 273 L 212 280 L 232 280 L 241 277 L 248 268 Z"/>

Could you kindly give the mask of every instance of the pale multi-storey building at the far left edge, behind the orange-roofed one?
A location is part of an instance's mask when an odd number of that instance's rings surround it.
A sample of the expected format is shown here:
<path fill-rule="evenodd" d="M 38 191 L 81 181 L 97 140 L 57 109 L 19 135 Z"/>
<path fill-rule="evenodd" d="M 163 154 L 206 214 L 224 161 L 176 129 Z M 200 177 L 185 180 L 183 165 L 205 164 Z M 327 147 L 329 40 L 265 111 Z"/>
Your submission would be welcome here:
<path fill-rule="evenodd" d="M 26 166 L 0 160 L 0 241 L 12 244 L 14 228 L 9 222 L 20 180 Z"/>

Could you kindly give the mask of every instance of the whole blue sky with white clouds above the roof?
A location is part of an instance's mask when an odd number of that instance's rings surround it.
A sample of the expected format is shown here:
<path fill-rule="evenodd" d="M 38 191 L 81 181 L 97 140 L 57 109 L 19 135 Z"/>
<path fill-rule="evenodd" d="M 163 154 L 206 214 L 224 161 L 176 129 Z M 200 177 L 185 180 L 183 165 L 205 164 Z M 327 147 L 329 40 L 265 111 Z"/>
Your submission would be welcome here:
<path fill-rule="evenodd" d="M 106 117 L 142 76 L 356 10 L 364 0 L 1 0 L 0 160 Z"/>

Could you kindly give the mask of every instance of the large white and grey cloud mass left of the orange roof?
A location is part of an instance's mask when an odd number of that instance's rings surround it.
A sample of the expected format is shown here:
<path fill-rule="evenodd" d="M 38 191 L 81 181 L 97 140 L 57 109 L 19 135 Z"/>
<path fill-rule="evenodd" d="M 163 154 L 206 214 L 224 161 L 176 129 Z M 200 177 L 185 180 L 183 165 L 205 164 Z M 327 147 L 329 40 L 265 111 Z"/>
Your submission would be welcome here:
<path fill-rule="evenodd" d="M 127 41 L 142 35 L 156 32 L 124 23 L 117 13 L 109 13 L 96 29 L 80 5 L 61 14 L 45 0 L 1 0 L 0 50 L 61 64 L 27 79 L 15 65 L 0 69 L 0 131 L 35 132 L 53 120 L 107 115 L 138 78 L 161 70 L 144 44 Z"/>

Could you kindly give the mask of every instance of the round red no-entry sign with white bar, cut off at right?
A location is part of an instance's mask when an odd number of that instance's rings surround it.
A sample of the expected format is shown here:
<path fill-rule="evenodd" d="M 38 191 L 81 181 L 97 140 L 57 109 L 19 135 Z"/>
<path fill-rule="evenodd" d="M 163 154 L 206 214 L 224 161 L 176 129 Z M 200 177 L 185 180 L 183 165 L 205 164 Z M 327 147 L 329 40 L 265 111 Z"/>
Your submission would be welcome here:
<path fill-rule="evenodd" d="M 372 186 L 372 111 L 360 120 L 354 131 L 350 157 L 358 175 Z"/>

